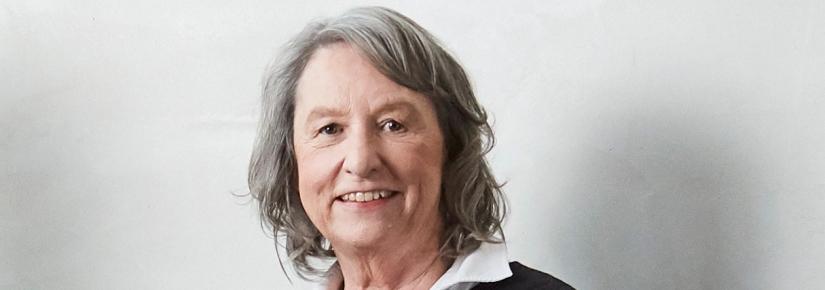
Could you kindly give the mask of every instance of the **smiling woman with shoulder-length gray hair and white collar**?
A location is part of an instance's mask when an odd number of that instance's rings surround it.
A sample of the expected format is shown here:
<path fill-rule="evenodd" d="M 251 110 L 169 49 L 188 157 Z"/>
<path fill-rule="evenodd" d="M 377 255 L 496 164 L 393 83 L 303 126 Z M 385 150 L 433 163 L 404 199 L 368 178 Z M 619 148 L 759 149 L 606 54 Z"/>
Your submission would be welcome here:
<path fill-rule="evenodd" d="M 405 16 L 358 8 L 307 26 L 270 69 L 259 130 L 251 192 L 321 289 L 570 288 L 508 263 L 486 114 Z"/>

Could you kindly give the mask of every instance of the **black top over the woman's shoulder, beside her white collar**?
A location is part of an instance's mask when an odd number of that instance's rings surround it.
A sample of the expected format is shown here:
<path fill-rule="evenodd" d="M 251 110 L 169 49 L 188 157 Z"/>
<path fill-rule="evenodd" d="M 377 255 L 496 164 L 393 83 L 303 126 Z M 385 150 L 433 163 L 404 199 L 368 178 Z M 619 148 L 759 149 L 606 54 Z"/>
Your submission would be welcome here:
<path fill-rule="evenodd" d="M 501 281 L 478 283 L 472 290 L 574 289 L 550 274 L 528 268 L 519 262 L 510 262 L 510 271 L 513 276 Z"/>

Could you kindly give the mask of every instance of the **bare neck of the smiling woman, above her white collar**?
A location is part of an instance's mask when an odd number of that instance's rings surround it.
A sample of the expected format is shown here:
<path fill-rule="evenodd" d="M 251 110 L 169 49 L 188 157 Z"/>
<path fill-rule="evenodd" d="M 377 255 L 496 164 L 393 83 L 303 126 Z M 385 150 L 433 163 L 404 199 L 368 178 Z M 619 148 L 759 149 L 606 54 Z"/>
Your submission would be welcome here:
<path fill-rule="evenodd" d="M 429 289 L 447 271 L 438 235 L 416 242 L 336 249 L 344 289 Z"/>

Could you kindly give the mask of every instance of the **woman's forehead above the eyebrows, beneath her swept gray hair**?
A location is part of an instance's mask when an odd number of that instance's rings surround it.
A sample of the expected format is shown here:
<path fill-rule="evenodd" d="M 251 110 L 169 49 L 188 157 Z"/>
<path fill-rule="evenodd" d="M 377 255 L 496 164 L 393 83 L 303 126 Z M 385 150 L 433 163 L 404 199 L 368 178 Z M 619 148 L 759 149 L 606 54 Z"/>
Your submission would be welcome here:
<path fill-rule="evenodd" d="M 393 82 L 376 69 L 356 48 L 334 43 L 318 48 L 298 80 L 296 105 L 371 104 L 394 100 L 427 102 L 423 96 Z"/>

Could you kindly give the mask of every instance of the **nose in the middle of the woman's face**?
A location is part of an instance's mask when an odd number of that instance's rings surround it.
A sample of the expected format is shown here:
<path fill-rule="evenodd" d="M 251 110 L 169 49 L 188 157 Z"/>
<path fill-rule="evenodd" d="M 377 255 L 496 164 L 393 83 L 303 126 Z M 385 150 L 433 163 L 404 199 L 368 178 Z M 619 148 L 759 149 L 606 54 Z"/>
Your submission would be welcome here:
<path fill-rule="evenodd" d="M 360 131 L 347 136 L 343 169 L 347 174 L 358 178 L 369 178 L 381 166 L 381 159 L 375 141 L 377 137 L 365 132 L 366 130 Z"/>

